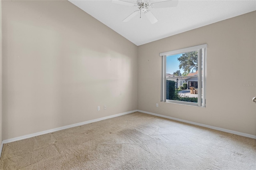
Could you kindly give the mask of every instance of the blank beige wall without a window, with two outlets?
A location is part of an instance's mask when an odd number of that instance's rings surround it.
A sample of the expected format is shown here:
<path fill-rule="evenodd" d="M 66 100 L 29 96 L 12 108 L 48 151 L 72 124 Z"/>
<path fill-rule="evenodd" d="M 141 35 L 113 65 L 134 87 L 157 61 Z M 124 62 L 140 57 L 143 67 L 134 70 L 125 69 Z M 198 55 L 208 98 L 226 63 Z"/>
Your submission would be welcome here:
<path fill-rule="evenodd" d="M 3 140 L 137 109 L 138 47 L 70 2 L 2 1 L 2 33 Z"/>

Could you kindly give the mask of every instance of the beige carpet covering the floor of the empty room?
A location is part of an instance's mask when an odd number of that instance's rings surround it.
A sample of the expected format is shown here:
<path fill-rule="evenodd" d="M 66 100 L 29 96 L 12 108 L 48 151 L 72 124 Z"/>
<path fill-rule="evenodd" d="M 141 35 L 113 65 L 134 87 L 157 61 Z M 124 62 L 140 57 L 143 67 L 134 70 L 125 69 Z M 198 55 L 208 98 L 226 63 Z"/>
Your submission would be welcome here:
<path fill-rule="evenodd" d="M 256 140 L 132 113 L 4 144 L 2 170 L 255 170 Z"/>

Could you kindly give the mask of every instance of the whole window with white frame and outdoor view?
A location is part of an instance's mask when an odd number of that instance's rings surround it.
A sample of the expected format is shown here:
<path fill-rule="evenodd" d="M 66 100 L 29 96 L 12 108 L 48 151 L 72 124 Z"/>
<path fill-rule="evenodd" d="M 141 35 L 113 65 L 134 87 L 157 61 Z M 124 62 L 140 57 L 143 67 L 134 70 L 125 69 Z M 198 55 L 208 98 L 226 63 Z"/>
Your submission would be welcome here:
<path fill-rule="evenodd" d="M 161 101 L 206 107 L 207 44 L 160 53 Z"/>

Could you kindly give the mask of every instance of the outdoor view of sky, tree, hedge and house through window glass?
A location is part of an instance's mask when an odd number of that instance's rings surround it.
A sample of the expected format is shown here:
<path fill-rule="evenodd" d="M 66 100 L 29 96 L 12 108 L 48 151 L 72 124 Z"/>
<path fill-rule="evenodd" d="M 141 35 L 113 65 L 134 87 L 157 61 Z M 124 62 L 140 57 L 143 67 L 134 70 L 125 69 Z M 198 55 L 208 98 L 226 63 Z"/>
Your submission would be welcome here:
<path fill-rule="evenodd" d="M 198 51 L 166 56 L 166 99 L 198 102 Z"/>

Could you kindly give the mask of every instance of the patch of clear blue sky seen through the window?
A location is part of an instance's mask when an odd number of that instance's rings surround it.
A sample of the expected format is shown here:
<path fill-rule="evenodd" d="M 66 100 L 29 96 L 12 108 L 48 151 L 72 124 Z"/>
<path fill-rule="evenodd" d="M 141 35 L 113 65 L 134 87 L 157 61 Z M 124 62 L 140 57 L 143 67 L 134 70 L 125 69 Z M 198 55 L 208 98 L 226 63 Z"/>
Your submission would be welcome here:
<path fill-rule="evenodd" d="M 183 73 L 183 69 L 179 69 L 180 62 L 178 58 L 182 56 L 182 54 L 169 55 L 166 57 L 166 73 L 172 74 L 173 72 L 180 70 L 180 73 Z"/>

